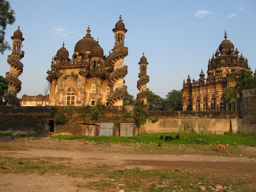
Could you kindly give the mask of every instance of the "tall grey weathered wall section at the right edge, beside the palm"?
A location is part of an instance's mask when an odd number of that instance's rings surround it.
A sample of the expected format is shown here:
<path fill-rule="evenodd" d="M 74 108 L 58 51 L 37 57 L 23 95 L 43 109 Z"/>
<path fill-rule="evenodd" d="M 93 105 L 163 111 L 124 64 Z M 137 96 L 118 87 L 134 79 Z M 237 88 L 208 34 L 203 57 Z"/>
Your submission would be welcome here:
<path fill-rule="evenodd" d="M 256 131 L 256 88 L 242 91 L 242 117 L 238 120 L 238 130 Z"/>

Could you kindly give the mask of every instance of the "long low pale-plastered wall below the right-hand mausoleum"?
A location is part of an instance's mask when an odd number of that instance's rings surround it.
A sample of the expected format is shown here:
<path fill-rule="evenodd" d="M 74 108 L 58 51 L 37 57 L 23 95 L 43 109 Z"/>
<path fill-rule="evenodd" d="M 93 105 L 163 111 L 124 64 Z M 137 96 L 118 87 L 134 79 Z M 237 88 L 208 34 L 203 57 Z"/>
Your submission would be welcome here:
<path fill-rule="evenodd" d="M 148 119 L 141 126 L 140 133 L 176 132 L 185 123 L 193 125 L 196 131 L 203 127 L 219 134 L 238 130 L 238 111 L 146 111 L 146 114 Z M 149 122 L 149 118 L 155 117 L 159 119 L 157 122 Z"/>

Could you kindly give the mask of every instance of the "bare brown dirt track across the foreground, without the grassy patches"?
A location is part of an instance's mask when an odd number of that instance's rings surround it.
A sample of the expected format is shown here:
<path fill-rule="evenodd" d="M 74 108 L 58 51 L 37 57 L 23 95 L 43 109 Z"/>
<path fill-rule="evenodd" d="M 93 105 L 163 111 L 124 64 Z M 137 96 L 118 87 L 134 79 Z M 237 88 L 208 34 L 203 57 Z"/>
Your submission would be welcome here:
<path fill-rule="evenodd" d="M 53 163 L 72 166 L 73 170 L 93 169 L 103 165 L 114 166 L 113 169 L 132 169 L 139 167 L 145 170 L 184 170 L 198 174 L 209 174 L 212 178 L 229 178 L 241 182 L 255 182 L 256 147 L 234 148 L 232 155 L 210 151 L 208 154 L 198 154 L 190 147 L 187 151 L 167 151 L 147 148 L 136 149 L 121 144 L 98 144 L 84 140 L 58 141 L 49 137 L 39 139 L 15 139 L 0 137 L 0 157 L 46 159 Z M 233 149 L 232 149 L 233 150 Z M 200 153 L 200 152 L 199 152 Z M 239 154 L 242 155 L 239 155 Z M 219 156 L 218 156 L 219 155 Z M 248 157 L 249 156 L 249 157 Z M 2 160 L 4 161 L 4 160 Z M 4 171 L 5 167 L 2 168 Z M 72 170 L 71 169 L 71 170 Z M 69 170 L 69 173 L 73 173 Z M 0 170 L 1 172 L 1 170 Z M 102 173 L 104 175 L 104 171 Z M 68 173 L 47 172 L 40 175 L 34 172 L 14 173 L 4 172 L 0 175 L 0 192 L 2 191 L 99 191 L 78 187 L 95 181 L 95 178 L 70 177 Z M 242 189 L 242 188 L 241 188 Z M 245 191 L 256 188 L 248 185 Z M 116 189 L 117 192 L 120 189 Z M 178 191 L 178 190 L 177 190 Z M 229 190 L 230 191 L 230 190 Z M 235 191 L 235 190 L 234 190 Z"/>

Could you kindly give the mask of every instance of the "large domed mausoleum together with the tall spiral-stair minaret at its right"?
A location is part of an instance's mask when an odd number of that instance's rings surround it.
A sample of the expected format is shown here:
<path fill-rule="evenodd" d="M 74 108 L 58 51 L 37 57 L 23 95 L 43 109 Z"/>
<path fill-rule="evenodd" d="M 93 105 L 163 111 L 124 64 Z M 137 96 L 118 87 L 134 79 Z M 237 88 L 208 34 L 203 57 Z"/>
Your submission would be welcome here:
<path fill-rule="evenodd" d="M 124 46 L 127 29 L 121 15 L 119 18 L 113 29 L 114 48 L 107 57 L 99 41 L 91 37 L 89 26 L 86 36 L 76 43 L 71 59 L 63 43 L 52 58 L 51 70 L 47 71 L 49 105 L 96 105 L 98 99 L 105 105 L 123 105 L 127 94 L 124 57 L 128 54 L 128 47 Z"/>

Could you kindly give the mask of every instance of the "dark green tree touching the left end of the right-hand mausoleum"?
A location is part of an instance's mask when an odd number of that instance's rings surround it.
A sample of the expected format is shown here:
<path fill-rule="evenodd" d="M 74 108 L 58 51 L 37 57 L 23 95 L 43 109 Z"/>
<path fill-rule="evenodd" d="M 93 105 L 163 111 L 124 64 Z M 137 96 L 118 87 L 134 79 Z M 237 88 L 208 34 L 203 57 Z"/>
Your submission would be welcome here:
<path fill-rule="evenodd" d="M 182 90 L 173 89 L 166 95 L 164 102 L 164 110 L 166 111 L 182 111 Z"/>

